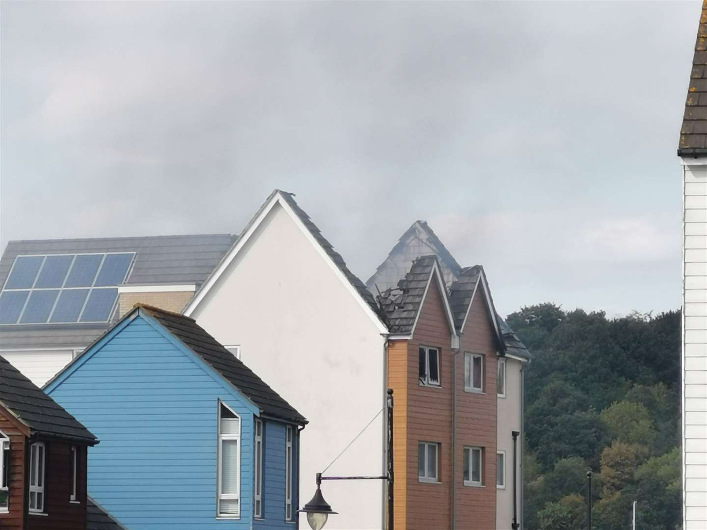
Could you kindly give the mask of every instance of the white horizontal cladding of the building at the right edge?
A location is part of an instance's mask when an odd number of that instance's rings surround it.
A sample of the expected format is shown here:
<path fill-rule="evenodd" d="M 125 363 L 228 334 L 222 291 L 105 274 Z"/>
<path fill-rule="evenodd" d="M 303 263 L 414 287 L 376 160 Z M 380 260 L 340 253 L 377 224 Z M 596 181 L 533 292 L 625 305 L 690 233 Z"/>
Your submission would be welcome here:
<path fill-rule="evenodd" d="M 707 160 L 682 160 L 683 502 L 685 530 L 707 529 Z"/>

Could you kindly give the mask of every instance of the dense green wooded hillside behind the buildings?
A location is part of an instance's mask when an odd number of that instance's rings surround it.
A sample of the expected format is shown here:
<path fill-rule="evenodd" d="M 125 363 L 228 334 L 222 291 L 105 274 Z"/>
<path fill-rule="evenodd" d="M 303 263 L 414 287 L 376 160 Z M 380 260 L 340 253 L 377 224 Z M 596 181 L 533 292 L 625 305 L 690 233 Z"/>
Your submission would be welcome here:
<path fill-rule="evenodd" d="M 681 526 L 680 314 L 524 307 L 508 324 L 534 354 L 526 376 L 525 528 Z"/>

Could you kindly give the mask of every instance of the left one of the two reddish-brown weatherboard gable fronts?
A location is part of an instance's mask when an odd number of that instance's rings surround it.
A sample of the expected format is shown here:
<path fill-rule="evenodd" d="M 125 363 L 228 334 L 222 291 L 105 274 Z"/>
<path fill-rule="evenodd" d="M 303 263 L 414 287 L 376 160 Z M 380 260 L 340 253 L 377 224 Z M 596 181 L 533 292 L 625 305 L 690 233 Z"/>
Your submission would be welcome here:
<path fill-rule="evenodd" d="M 440 351 L 441 387 L 419 384 L 419 346 Z M 407 355 L 407 526 L 408 530 L 450 527 L 452 453 L 452 351 L 450 329 L 436 278 L 432 278 Z M 438 442 L 440 483 L 418 479 L 418 443 Z"/>

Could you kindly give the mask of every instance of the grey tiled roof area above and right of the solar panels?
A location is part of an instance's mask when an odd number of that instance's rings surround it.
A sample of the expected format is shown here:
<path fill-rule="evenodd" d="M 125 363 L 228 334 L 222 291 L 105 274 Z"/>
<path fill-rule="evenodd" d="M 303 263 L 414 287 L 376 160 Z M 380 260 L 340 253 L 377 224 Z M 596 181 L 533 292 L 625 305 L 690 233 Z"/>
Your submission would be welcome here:
<path fill-rule="evenodd" d="M 135 252 L 125 283 L 202 283 L 237 239 L 230 234 L 11 241 L 0 259 L 0 285 L 21 254 Z"/>

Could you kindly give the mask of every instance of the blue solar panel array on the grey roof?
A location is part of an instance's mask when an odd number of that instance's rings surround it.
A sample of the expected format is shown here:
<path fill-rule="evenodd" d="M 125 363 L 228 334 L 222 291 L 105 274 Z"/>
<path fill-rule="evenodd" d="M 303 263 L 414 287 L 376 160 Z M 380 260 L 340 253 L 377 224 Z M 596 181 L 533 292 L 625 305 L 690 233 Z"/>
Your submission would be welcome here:
<path fill-rule="evenodd" d="M 16 257 L 0 293 L 0 324 L 107 322 L 134 252 Z"/>

